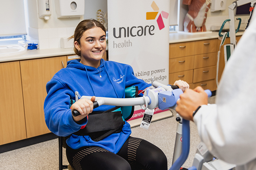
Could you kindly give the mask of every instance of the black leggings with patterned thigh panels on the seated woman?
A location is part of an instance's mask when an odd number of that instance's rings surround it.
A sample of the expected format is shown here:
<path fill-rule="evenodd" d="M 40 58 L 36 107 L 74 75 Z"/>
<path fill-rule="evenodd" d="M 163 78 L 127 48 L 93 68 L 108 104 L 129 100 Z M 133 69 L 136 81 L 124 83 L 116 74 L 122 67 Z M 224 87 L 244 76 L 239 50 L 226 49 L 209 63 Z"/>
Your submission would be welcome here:
<path fill-rule="evenodd" d="M 131 136 L 117 154 L 101 147 L 67 147 L 66 155 L 75 170 L 167 170 L 167 158 L 161 149 Z"/>

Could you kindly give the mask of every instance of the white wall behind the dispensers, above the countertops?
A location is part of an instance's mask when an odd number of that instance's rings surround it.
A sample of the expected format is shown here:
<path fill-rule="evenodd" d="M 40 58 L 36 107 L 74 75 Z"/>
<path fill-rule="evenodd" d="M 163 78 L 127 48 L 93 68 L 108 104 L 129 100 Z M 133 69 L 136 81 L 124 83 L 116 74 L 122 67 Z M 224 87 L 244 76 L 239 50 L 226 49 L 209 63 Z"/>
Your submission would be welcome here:
<path fill-rule="evenodd" d="M 206 20 L 207 30 L 210 30 L 213 25 L 220 27 L 223 21 L 229 18 L 228 6 L 233 1 L 234 0 L 227 0 L 225 11 L 208 11 Z M 37 0 L 24 0 L 25 13 L 27 15 L 28 39 L 39 43 L 40 49 L 60 48 L 60 38 L 73 35 L 75 27 L 81 20 L 90 18 L 97 19 L 97 11 L 99 9 L 101 9 L 104 14 L 107 13 L 108 9 L 107 0 L 85 0 L 84 16 L 80 18 L 57 18 L 55 0 L 49 0 L 49 2 L 51 16 L 50 19 L 46 21 L 38 17 Z M 8 9 L 6 8 L 6 10 Z M 245 29 L 249 16 L 240 16 L 240 18 L 242 18 L 240 29 Z M 236 27 L 237 24 L 238 21 L 236 21 Z M 225 28 L 228 27 L 229 24 L 226 23 Z"/>

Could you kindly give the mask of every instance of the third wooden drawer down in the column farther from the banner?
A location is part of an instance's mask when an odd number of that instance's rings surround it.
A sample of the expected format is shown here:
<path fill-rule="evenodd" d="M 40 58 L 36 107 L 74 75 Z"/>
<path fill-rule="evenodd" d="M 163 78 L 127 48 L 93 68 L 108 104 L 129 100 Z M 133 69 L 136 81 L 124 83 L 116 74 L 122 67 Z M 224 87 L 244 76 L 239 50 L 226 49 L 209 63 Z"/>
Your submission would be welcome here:
<path fill-rule="evenodd" d="M 216 66 L 194 69 L 193 82 L 201 82 L 216 78 Z"/>

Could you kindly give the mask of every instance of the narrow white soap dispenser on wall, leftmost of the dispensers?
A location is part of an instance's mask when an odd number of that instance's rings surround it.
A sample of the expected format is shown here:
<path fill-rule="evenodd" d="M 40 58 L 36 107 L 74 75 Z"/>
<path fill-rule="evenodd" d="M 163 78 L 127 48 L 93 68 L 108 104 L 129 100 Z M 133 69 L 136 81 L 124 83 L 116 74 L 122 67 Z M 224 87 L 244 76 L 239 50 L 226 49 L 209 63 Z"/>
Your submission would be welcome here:
<path fill-rule="evenodd" d="M 37 0 L 38 16 L 45 20 L 49 20 L 51 16 L 50 0 Z"/>

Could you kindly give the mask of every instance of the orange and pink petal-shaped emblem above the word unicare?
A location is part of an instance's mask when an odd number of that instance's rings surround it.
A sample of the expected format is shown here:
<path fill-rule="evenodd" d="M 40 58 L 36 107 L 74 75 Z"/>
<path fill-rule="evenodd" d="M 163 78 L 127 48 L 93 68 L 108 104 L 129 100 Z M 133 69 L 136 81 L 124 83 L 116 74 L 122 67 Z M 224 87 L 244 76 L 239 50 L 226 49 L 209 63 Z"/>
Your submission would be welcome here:
<path fill-rule="evenodd" d="M 155 4 L 155 1 L 152 2 L 151 7 L 155 12 L 147 12 L 146 13 L 146 20 L 155 20 L 157 14 L 159 13 L 159 7 L 157 6 L 157 4 Z M 165 11 L 161 11 L 161 13 L 159 14 L 159 16 L 156 20 L 157 25 L 159 27 L 159 30 L 165 28 L 163 18 L 167 19 L 168 16 L 169 16 L 169 13 L 166 13 Z"/>

